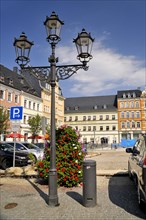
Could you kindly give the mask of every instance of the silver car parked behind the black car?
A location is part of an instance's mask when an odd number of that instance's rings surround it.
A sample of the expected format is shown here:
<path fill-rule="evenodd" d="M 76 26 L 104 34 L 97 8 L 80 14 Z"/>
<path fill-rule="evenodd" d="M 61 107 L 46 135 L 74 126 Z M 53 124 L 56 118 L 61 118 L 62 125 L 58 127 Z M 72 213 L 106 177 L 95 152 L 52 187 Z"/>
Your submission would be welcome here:
<path fill-rule="evenodd" d="M 14 142 L 6 142 L 14 147 Z M 16 141 L 16 150 L 21 152 L 31 153 L 34 157 L 34 160 L 43 159 L 44 152 L 42 149 L 39 149 L 36 145 L 28 142 L 18 142 Z"/>

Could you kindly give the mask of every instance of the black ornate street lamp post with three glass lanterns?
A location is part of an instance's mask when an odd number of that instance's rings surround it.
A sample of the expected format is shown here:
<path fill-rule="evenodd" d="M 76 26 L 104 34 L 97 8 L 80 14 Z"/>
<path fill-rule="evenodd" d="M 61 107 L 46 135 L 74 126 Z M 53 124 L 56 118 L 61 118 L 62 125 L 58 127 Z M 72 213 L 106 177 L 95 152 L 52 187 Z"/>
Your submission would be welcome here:
<path fill-rule="evenodd" d="M 64 80 L 72 76 L 79 69 L 87 70 L 87 62 L 92 59 L 91 49 L 94 39 L 88 34 L 85 29 L 78 34 L 73 40 L 76 44 L 78 56 L 82 62 L 81 65 L 61 65 L 57 66 L 58 58 L 55 57 L 55 47 L 60 41 L 60 30 L 64 24 L 55 12 L 52 12 L 50 17 L 46 17 L 44 25 L 47 31 L 47 41 L 51 44 L 52 53 L 49 57 L 50 66 L 27 66 L 29 62 L 29 53 L 33 42 L 29 41 L 24 33 L 19 39 L 14 40 L 16 49 L 16 62 L 21 67 L 22 71 L 30 71 L 39 80 L 47 81 L 51 85 L 51 140 L 50 140 L 50 170 L 49 170 L 49 201 L 50 206 L 58 206 L 57 195 L 57 171 L 56 171 L 56 131 L 55 131 L 55 86 L 56 81 Z"/>

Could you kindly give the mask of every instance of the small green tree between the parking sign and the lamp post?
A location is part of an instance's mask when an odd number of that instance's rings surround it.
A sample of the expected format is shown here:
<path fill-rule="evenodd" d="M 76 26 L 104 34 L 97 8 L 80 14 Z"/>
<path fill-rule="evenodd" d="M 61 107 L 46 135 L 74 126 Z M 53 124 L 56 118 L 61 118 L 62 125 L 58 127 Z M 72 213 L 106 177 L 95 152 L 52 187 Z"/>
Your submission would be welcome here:
<path fill-rule="evenodd" d="M 38 135 L 42 129 L 41 117 L 37 114 L 36 116 L 28 120 L 28 124 L 30 126 L 30 131 L 32 133 L 32 136 Z"/>

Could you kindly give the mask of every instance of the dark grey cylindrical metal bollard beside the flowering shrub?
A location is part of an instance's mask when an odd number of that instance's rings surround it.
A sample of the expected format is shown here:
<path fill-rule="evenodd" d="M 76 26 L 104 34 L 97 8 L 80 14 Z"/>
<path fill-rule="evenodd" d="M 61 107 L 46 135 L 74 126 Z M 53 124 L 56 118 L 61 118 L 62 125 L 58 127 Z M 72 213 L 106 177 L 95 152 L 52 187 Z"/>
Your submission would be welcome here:
<path fill-rule="evenodd" d="M 93 207 L 97 204 L 96 196 L 96 161 L 83 162 L 83 205 Z"/>

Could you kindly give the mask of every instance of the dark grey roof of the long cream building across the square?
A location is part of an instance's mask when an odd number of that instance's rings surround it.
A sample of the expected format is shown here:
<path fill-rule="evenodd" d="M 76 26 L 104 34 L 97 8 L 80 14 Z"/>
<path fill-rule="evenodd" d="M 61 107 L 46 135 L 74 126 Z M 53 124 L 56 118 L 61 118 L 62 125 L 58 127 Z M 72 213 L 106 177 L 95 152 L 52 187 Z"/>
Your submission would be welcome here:
<path fill-rule="evenodd" d="M 117 96 L 91 96 L 65 99 L 65 113 L 116 111 Z"/>

